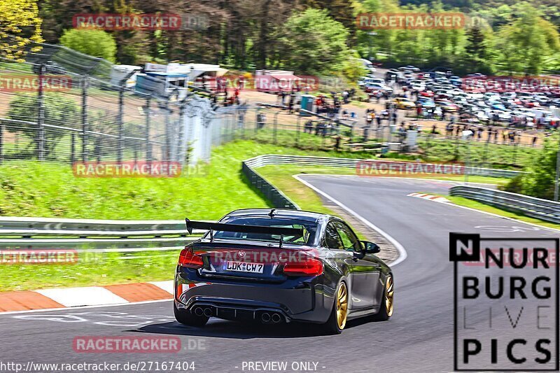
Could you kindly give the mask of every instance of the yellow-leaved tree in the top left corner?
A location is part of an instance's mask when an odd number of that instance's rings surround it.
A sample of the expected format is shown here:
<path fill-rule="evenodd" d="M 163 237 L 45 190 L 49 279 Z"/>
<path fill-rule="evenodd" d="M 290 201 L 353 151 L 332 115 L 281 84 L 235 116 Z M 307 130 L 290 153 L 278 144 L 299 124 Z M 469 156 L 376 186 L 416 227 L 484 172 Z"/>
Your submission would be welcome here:
<path fill-rule="evenodd" d="M 0 56 L 22 59 L 25 46 L 41 43 L 36 0 L 0 0 Z"/>

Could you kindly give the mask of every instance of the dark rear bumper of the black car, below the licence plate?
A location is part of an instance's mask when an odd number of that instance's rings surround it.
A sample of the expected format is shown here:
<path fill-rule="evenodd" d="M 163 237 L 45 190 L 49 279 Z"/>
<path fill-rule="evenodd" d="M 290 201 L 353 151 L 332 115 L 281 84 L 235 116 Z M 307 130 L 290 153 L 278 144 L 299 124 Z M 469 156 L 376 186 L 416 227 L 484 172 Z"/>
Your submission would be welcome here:
<path fill-rule="evenodd" d="M 175 277 L 178 309 L 213 307 L 221 318 L 255 318 L 262 311 L 277 312 L 286 321 L 325 323 L 332 309 L 331 297 L 323 297 L 322 277 L 283 283 L 202 279 L 195 270 Z M 326 302 L 325 302 L 326 298 Z M 239 317 L 237 317 L 239 316 Z"/>

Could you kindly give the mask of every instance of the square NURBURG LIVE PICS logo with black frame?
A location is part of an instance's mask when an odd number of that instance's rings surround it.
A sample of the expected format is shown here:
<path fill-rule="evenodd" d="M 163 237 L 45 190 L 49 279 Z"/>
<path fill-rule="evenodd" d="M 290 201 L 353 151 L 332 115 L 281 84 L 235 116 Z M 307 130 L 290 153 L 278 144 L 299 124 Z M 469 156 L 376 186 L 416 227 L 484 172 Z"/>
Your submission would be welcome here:
<path fill-rule="evenodd" d="M 558 258 L 558 238 L 449 234 L 455 371 L 559 371 Z"/>

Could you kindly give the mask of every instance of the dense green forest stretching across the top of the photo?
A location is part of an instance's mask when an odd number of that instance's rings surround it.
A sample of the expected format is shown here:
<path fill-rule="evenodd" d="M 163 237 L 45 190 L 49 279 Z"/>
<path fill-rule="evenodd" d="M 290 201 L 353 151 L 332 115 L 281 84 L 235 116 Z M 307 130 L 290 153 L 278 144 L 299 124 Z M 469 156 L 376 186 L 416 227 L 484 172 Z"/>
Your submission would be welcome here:
<path fill-rule="evenodd" d="M 554 0 L 0 0 L 8 12 L 0 12 L 0 24 L 11 22 L 10 9 L 33 6 L 47 43 L 121 64 L 207 62 L 352 76 L 353 56 L 385 66 L 453 66 L 457 73 L 560 71 Z M 461 29 L 375 32 L 356 24 L 359 13 L 457 11 L 477 22 Z M 74 29 L 73 16 L 80 13 L 204 14 L 208 23 L 204 29 Z"/>

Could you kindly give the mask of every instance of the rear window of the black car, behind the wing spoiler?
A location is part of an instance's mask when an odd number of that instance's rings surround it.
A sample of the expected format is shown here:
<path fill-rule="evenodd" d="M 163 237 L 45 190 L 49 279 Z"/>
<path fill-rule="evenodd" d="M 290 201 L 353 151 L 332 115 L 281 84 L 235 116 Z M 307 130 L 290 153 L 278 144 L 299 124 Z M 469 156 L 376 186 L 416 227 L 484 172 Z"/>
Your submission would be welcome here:
<path fill-rule="evenodd" d="M 284 236 L 283 243 L 285 244 L 295 244 L 295 245 L 305 245 L 315 241 L 315 236 L 317 232 L 317 223 L 309 222 L 304 220 L 298 220 L 293 218 L 263 218 L 255 216 L 232 216 L 226 217 L 220 221 L 220 223 L 230 223 L 239 225 L 259 225 L 261 227 L 285 227 L 285 228 L 295 228 L 304 229 L 307 231 L 307 241 L 306 237 L 298 236 Z M 204 238 L 209 238 L 209 234 L 205 234 Z M 228 240 L 250 240 L 250 241 L 262 241 L 262 242 L 272 242 L 279 243 L 280 236 L 276 234 L 263 234 L 263 233 L 244 233 L 244 232 L 214 232 L 214 239 L 228 239 Z"/>

